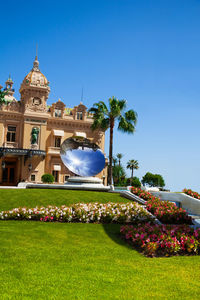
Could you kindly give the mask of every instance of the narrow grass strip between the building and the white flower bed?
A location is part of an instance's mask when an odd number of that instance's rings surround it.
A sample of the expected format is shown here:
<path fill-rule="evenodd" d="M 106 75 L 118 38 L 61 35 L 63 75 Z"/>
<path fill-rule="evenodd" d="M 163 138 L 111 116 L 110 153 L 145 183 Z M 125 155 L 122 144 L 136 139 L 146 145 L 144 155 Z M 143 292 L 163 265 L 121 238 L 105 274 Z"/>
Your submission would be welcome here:
<path fill-rule="evenodd" d="M 119 194 L 106 192 L 43 190 L 43 189 L 0 189 L 0 210 L 15 207 L 36 207 L 47 205 L 70 205 L 72 203 L 88 202 L 129 202 Z"/>

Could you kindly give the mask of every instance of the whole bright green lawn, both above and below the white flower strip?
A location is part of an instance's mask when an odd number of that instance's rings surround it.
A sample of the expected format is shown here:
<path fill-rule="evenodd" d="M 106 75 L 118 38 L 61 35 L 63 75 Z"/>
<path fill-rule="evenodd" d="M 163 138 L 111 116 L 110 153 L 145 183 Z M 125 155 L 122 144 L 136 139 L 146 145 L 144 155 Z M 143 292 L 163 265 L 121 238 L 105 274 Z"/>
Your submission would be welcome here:
<path fill-rule="evenodd" d="M 0 190 L 0 209 L 83 201 L 125 199 L 108 193 Z M 0 221 L 0 299 L 199 299 L 198 256 L 146 258 L 120 239 L 119 228 Z"/>

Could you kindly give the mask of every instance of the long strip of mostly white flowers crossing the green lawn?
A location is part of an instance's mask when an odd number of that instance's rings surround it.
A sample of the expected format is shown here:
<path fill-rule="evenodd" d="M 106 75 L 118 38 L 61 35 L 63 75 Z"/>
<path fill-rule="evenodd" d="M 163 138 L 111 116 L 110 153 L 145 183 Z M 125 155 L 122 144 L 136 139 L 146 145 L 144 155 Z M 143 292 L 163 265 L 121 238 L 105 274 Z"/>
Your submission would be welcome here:
<path fill-rule="evenodd" d="M 0 212 L 0 220 L 43 222 L 138 223 L 154 222 L 154 217 L 137 203 L 76 203 L 72 206 L 14 208 Z"/>

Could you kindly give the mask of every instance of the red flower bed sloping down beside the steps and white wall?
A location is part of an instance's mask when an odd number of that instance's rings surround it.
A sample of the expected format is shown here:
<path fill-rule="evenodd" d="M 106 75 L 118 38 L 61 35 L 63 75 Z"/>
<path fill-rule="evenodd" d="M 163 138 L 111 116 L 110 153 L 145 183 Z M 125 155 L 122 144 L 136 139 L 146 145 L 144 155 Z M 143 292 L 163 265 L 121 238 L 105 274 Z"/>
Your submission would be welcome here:
<path fill-rule="evenodd" d="M 131 192 L 140 198 L 146 200 L 146 208 L 164 224 L 192 224 L 192 218 L 187 212 L 178 208 L 173 202 L 161 201 L 160 198 L 132 187 Z"/>

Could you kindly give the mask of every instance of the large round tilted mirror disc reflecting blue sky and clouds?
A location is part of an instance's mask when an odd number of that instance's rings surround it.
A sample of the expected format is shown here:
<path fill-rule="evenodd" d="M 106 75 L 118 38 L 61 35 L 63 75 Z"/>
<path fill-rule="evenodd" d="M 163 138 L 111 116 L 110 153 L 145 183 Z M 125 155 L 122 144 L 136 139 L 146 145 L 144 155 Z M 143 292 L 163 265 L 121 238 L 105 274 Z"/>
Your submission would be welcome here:
<path fill-rule="evenodd" d="M 99 146 L 83 137 L 66 139 L 60 150 L 64 165 L 79 176 L 94 176 L 105 167 L 105 157 Z"/>

